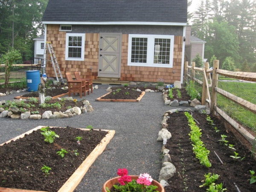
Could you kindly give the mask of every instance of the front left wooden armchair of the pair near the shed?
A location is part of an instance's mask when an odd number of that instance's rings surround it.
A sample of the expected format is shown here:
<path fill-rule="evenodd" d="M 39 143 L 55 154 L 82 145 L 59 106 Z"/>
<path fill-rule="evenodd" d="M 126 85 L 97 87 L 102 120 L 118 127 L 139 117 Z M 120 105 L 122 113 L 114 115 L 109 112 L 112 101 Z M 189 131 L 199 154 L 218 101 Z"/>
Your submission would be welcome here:
<path fill-rule="evenodd" d="M 79 93 L 80 98 L 82 98 L 82 93 L 86 96 L 86 86 L 82 81 L 73 80 L 70 73 L 66 73 L 67 84 L 68 84 L 68 96 L 71 96 L 71 93 L 75 96 L 76 93 Z"/>

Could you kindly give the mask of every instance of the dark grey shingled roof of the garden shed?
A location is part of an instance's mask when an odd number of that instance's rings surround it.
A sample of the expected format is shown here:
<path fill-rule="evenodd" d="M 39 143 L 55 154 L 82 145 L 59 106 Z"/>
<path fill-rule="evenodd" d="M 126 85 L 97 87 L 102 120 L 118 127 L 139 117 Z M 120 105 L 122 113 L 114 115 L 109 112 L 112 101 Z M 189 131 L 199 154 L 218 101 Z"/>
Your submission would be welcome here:
<path fill-rule="evenodd" d="M 187 0 L 49 0 L 43 22 L 187 22 Z"/>

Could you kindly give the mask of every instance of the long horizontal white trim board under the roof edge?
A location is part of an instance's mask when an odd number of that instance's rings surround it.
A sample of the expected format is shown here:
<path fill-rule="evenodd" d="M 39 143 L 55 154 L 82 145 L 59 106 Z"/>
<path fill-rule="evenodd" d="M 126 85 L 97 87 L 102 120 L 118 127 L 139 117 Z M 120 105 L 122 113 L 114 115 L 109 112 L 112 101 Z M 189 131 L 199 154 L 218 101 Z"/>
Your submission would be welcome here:
<path fill-rule="evenodd" d="M 43 24 L 64 24 L 64 25 L 167 25 L 186 26 L 181 22 L 151 22 L 151 21 L 43 21 Z"/>

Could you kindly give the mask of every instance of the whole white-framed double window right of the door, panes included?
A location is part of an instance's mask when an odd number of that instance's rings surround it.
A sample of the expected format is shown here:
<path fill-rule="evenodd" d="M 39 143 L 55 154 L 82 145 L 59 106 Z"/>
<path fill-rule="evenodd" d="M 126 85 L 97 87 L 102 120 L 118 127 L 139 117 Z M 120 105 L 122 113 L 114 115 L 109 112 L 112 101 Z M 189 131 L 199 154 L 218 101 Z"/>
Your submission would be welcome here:
<path fill-rule="evenodd" d="M 174 35 L 130 34 L 128 41 L 129 66 L 173 66 Z"/>

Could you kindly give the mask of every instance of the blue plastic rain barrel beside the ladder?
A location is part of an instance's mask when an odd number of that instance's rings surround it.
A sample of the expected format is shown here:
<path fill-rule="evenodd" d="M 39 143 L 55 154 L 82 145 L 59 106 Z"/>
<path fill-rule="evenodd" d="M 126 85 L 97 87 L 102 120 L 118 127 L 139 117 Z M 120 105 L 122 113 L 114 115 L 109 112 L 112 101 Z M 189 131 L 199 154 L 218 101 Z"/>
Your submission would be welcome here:
<path fill-rule="evenodd" d="M 28 91 L 38 91 L 38 85 L 41 83 L 40 71 L 26 71 Z"/>

